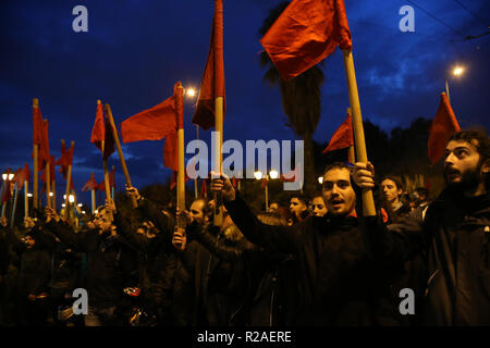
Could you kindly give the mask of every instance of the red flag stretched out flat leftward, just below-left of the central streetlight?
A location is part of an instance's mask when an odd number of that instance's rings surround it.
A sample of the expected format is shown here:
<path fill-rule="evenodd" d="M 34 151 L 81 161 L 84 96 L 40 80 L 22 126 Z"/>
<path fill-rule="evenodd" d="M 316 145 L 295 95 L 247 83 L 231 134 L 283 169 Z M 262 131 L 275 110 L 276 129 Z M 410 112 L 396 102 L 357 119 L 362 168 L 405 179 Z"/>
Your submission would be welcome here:
<path fill-rule="evenodd" d="M 123 142 L 161 140 L 176 128 L 175 96 L 142 111 L 121 124 Z"/>

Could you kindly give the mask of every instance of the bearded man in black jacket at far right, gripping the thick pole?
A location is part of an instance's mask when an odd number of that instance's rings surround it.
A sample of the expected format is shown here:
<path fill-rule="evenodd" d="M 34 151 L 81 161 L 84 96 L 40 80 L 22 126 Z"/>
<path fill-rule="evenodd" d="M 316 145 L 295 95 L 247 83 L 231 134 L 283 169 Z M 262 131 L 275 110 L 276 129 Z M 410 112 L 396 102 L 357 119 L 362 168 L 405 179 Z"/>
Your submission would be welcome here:
<path fill-rule="evenodd" d="M 356 184 L 372 187 L 373 171 L 370 163 L 356 163 Z M 369 229 L 376 256 L 387 262 L 427 254 L 425 325 L 490 325 L 489 171 L 489 137 L 456 133 L 445 147 L 448 187 L 425 219 L 411 215 L 391 232 L 380 224 Z"/>

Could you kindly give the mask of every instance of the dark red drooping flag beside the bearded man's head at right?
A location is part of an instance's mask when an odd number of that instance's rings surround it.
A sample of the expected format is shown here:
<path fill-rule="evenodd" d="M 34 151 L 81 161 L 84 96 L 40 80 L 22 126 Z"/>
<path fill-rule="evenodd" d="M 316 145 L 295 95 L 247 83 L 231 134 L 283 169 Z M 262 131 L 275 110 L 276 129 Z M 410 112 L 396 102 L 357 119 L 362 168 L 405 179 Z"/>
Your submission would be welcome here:
<path fill-rule="evenodd" d="M 460 130 L 460 125 L 453 109 L 451 108 L 448 96 L 442 92 L 439 110 L 430 126 L 428 141 L 429 159 L 432 161 L 432 164 L 436 164 L 444 154 L 445 145 L 449 138 Z"/>

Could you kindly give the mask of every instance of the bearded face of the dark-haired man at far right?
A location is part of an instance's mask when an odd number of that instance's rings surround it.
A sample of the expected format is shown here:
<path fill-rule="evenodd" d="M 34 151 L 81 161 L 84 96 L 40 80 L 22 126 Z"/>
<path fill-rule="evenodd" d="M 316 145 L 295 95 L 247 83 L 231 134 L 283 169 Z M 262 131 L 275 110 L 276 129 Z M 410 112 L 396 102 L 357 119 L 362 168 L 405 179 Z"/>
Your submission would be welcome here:
<path fill-rule="evenodd" d="M 483 172 L 488 172 L 489 166 L 482 163 L 479 167 L 480 156 L 473 144 L 451 140 L 444 156 L 444 179 L 449 186 L 476 189 L 485 184 Z"/>

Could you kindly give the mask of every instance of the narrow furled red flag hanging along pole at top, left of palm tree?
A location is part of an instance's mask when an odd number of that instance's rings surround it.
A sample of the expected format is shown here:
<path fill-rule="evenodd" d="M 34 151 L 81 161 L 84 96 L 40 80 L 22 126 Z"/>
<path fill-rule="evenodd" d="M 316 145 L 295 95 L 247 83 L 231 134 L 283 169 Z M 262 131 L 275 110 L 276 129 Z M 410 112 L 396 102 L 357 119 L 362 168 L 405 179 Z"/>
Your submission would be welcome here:
<path fill-rule="evenodd" d="M 196 112 L 193 123 L 204 129 L 215 125 L 215 100 L 223 97 L 223 116 L 226 109 L 224 99 L 224 62 L 223 62 L 223 1 L 215 0 L 215 17 L 211 29 L 208 60 L 200 83 Z"/>

